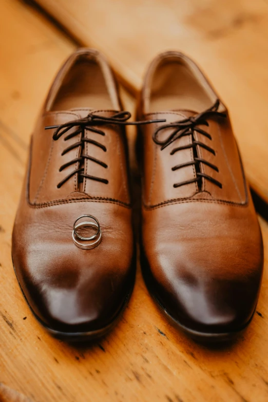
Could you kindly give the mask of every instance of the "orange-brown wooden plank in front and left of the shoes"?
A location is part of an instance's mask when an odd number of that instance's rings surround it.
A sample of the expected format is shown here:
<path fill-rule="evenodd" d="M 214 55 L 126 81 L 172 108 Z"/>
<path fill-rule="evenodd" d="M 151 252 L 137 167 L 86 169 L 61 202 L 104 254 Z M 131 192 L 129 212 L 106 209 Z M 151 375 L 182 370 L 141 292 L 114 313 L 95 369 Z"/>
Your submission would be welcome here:
<path fill-rule="evenodd" d="M 266 402 L 268 225 L 261 219 L 265 270 L 258 314 L 226 348 L 198 346 L 171 327 L 149 297 L 139 266 L 122 320 L 98 343 L 74 347 L 55 340 L 32 317 L 13 273 L 12 225 L 34 117 L 74 45 L 15 0 L 1 1 L 0 17 L 1 54 L 8 64 L 2 63 L 1 82 L 9 80 L 0 91 L 5 105 L 0 110 L 5 127 L 0 126 L 0 400 L 18 392 L 22 401 L 25 395 L 32 402 Z M 47 37 L 50 45 L 43 48 Z M 34 55 L 28 52 L 30 41 L 36 44 Z M 20 97 L 12 100 L 12 91 Z M 126 101 L 130 108 L 132 100 Z"/>

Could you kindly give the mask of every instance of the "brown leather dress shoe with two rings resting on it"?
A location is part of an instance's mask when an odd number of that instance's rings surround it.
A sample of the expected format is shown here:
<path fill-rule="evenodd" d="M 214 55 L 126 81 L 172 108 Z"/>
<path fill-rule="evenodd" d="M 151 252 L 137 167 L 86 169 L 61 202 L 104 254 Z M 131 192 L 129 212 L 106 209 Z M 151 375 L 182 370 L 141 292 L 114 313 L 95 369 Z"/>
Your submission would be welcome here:
<path fill-rule="evenodd" d="M 12 257 L 30 309 L 57 337 L 103 335 L 133 287 L 129 113 L 120 110 L 106 60 L 81 49 L 56 76 L 33 132 Z"/>

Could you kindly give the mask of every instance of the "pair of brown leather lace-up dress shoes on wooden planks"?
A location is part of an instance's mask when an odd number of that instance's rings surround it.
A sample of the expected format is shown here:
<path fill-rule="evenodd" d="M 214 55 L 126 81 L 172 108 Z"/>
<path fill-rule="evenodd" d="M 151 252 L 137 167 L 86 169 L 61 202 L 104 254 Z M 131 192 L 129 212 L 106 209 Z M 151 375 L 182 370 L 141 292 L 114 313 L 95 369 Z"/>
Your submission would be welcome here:
<path fill-rule="evenodd" d="M 103 335 L 133 288 L 129 116 L 103 55 L 80 49 L 33 132 L 12 256 L 31 311 L 56 337 Z M 188 334 L 229 338 L 254 314 L 263 250 L 226 107 L 191 60 L 166 52 L 148 69 L 138 120 L 148 123 L 137 143 L 147 286 Z"/>

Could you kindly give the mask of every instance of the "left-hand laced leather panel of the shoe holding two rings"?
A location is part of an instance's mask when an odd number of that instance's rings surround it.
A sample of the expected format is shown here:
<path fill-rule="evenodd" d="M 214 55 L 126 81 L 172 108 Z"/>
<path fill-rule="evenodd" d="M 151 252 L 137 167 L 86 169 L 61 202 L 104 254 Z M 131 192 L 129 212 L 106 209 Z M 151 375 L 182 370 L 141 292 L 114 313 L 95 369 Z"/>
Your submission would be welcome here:
<path fill-rule="evenodd" d="M 73 112 L 46 113 L 37 125 L 32 140 L 29 200 L 33 204 L 61 200 L 77 189 L 77 175 L 67 180 L 61 188 L 57 185 L 73 170 L 78 168 L 78 163 L 72 164 L 60 172 L 60 167 L 78 158 L 80 149 L 76 147 L 62 156 L 62 152 L 69 146 L 80 141 L 81 135 L 77 135 L 68 141 L 67 135 L 61 136 L 57 141 L 52 139 L 54 129 L 45 130 L 46 126 L 66 123 L 78 119 L 79 115 Z M 68 135 L 75 128 L 68 131 Z"/>

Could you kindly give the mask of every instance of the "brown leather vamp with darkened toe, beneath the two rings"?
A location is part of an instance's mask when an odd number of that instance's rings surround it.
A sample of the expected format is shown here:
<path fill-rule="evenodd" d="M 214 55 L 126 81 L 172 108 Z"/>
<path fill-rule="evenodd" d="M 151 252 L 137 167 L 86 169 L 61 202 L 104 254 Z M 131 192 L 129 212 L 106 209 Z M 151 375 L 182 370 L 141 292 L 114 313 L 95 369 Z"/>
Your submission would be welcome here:
<path fill-rule="evenodd" d="M 22 209 L 21 209 L 22 210 Z M 67 202 L 18 211 L 12 255 L 18 280 L 37 315 L 63 322 L 107 316 L 122 298 L 133 253 L 131 211 L 108 202 Z M 74 221 L 100 222 L 101 243 L 82 250 L 72 241 Z M 66 315 L 66 317 L 65 317 Z"/>

